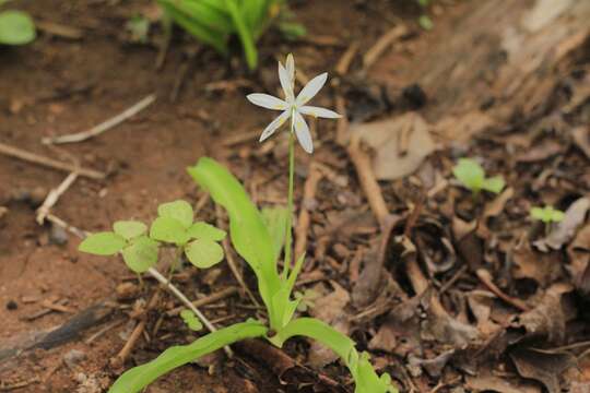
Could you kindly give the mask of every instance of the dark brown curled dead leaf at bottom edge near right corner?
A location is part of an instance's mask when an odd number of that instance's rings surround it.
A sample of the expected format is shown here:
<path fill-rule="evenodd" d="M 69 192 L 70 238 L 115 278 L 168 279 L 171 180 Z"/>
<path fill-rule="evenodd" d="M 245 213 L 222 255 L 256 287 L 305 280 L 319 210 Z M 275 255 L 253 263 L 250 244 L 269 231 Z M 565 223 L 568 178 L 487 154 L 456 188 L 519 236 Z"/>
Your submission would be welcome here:
<path fill-rule="evenodd" d="M 550 393 L 559 393 L 559 374 L 573 366 L 576 358 L 567 353 L 556 353 L 533 348 L 517 348 L 510 353 L 518 373 L 536 380 Z"/>

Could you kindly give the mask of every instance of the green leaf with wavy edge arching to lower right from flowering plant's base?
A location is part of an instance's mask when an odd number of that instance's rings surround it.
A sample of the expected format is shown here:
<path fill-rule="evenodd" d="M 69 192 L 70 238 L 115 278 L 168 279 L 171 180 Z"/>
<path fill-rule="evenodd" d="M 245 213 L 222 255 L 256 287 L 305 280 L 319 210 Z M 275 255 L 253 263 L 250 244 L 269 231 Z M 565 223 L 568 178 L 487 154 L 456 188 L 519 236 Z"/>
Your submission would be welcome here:
<path fill-rule="evenodd" d="M 354 342 L 327 323 L 315 318 L 299 318 L 291 321 L 269 341 L 282 347 L 293 336 L 306 336 L 332 349 L 351 370 L 356 383 L 355 393 L 397 393 L 387 374 L 377 376 L 366 354 L 358 355 Z"/>

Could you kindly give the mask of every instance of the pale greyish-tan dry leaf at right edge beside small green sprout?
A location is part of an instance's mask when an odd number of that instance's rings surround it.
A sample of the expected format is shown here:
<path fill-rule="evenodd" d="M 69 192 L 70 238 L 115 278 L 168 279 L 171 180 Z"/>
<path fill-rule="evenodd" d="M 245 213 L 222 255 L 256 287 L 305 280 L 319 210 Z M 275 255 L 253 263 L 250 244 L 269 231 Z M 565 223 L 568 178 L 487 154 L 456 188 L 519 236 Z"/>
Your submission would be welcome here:
<path fill-rule="evenodd" d="M 576 236 L 576 230 L 586 221 L 586 213 L 590 210 L 590 198 L 580 198 L 565 212 L 564 219 L 544 239 L 534 242 L 534 246 L 547 252 L 550 249 L 558 250 Z"/>

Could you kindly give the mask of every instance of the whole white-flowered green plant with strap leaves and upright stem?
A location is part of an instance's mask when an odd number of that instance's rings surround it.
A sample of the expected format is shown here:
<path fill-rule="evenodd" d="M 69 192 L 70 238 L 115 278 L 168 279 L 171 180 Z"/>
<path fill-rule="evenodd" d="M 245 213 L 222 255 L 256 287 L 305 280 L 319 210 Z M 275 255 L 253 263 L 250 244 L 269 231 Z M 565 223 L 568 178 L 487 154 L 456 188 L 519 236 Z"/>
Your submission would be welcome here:
<path fill-rule="evenodd" d="M 139 392 L 160 376 L 240 340 L 266 338 L 273 345 L 282 347 L 293 336 L 316 340 L 334 350 L 350 369 L 355 381 L 356 393 L 398 392 L 391 383 L 390 376 L 388 373 L 378 376 L 370 365 L 368 354 L 359 354 L 355 348 L 355 343 L 350 337 L 320 320 L 296 317 L 302 297 L 295 296 L 295 299 L 293 299 L 292 295 L 305 255 L 297 255 L 296 262 L 292 264 L 291 216 L 294 214 L 295 138 L 298 139 L 306 152 L 311 153 L 311 135 L 302 115 L 327 118 L 337 118 L 339 116 L 328 109 L 306 106 L 326 83 L 327 74 L 321 74 L 311 80 L 297 97 L 293 92 L 295 64 L 292 56 L 287 58 L 286 67 L 279 64 L 279 74 L 285 93 L 284 99 L 260 94 L 250 95 L 248 98 L 257 105 L 282 111 L 279 118 L 264 130 L 261 140 L 269 138 L 291 119 L 287 209 L 275 207 L 259 211 L 240 182 L 225 167 L 211 158 L 203 157 L 199 159 L 196 166 L 188 168 L 189 175 L 196 182 L 206 190 L 213 201 L 227 212 L 232 243 L 256 275 L 258 290 L 266 306 L 268 320 L 248 320 L 209 333 L 191 344 L 170 347 L 154 360 L 125 372 L 110 388 L 109 392 Z M 154 226 L 158 228 L 162 225 L 168 228 L 165 231 L 167 235 L 164 241 L 186 245 L 187 237 L 190 237 L 190 235 L 182 230 L 186 231 L 187 228 L 191 227 L 188 214 L 182 219 L 179 219 L 176 215 L 174 217 L 165 216 L 178 221 L 178 223 L 174 224 L 174 230 L 170 229 L 172 225 L 156 224 L 156 222 L 152 224 L 152 228 Z M 184 221 L 184 225 L 180 225 L 180 221 Z M 168 237 L 169 231 L 174 231 L 176 235 Z M 150 236 L 152 236 L 152 233 L 153 230 L 151 230 Z M 156 240 L 157 238 L 162 239 L 160 236 L 156 237 Z M 125 249 L 125 247 L 126 243 L 119 241 L 117 248 Z M 109 251 L 113 251 L 113 249 Z M 282 272 L 279 269 L 281 255 L 284 255 Z"/>

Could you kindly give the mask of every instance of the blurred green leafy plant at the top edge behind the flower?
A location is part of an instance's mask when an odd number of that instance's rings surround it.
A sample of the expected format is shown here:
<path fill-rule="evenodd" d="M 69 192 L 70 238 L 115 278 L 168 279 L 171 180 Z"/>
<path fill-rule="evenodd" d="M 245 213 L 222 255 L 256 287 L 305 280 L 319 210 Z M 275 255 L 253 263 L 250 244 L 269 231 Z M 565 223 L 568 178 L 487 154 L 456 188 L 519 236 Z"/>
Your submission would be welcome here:
<path fill-rule="evenodd" d="M 238 36 L 250 70 L 258 64 L 256 41 L 278 20 L 290 38 L 305 34 L 285 0 L 157 0 L 166 15 L 189 34 L 227 56 L 229 37 Z M 286 15 L 282 15 L 285 13 Z"/>

